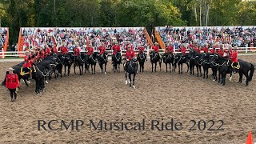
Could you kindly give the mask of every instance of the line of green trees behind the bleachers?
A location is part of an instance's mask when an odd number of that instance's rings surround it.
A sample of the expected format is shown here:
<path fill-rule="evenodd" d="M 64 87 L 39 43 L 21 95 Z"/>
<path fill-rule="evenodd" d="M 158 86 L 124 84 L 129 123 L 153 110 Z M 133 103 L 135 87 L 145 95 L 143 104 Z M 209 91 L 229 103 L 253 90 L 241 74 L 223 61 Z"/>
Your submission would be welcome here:
<path fill-rule="evenodd" d="M 10 44 L 20 27 L 250 26 L 256 1 L 242 0 L 1 0 L 0 26 Z"/>

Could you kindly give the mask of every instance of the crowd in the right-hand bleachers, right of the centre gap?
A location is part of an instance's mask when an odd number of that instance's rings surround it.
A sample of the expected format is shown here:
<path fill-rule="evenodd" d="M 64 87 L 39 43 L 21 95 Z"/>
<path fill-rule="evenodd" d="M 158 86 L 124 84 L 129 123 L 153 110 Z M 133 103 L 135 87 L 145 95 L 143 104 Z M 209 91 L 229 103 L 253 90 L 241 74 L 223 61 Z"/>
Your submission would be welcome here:
<path fill-rule="evenodd" d="M 242 27 L 158 27 L 163 42 L 167 45 L 171 43 L 175 49 L 182 43 L 188 47 L 197 45 L 215 46 L 215 44 L 223 44 L 228 46 L 256 47 L 256 29 L 254 26 Z"/>

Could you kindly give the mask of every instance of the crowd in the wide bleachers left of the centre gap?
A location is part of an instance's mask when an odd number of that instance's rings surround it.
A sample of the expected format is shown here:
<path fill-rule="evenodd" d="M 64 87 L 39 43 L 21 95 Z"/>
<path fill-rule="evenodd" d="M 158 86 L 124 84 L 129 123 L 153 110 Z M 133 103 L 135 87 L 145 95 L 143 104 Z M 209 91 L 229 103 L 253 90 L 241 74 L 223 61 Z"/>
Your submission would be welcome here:
<path fill-rule="evenodd" d="M 26 28 L 22 30 L 24 38 L 23 50 L 33 47 L 65 45 L 69 50 L 74 46 L 80 46 L 86 50 L 86 42 L 98 50 L 101 42 L 106 42 L 107 50 L 110 50 L 114 42 L 121 44 L 125 50 L 126 42 L 130 42 L 134 49 L 144 44 L 146 46 L 146 34 L 142 28 Z M 55 43 L 56 42 L 56 43 Z"/>

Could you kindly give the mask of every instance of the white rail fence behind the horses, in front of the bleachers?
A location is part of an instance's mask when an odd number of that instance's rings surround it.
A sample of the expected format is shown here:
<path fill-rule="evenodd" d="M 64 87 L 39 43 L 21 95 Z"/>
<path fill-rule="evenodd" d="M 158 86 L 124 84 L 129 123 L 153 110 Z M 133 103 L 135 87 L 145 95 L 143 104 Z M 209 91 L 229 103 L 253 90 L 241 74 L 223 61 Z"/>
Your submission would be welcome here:
<path fill-rule="evenodd" d="M 216 48 L 217 50 L 219 48 Z M 211 50 L 211 48 L 209 49 Z M 227 50 L 226 48 L 224 48 L 224 50 Z M 134 50 L 135 54 L 138 53 L 139 50 Z M 186 53 L 188 53 L 190 51 L 190 49 L 186 49 Z M 73 52 L 73 51 L 69 51 L 69 52 Z M 81 52 L 85 52 L 85 50 L 82 50 Z M 94 50 L 94 52 L 98 52 L 98 50 Z M 113 50 L 106 50 L 106 52 L 109 55 L 112 55 Z M 126 53 L 126 50 L 121 50 L 122 54 Z M 147 48 L 145 50 L 146 55 L 150 54 L 150 49 Z M 160 53 L 164 53 L 164 50 L 159 49 Z M 238 47 L 238 53 L 248 53 L 248 52 L 256 52 L 256 47 Z M 174 53 L 180 53 L 177 51 L 177 49 L 174 50 Z M 4 51 L 2 49 L 2 51 L 0 51 L 0 58 L 5 58 L 5 57 L 24 57 L 26 55 L 26 51 Z"/>

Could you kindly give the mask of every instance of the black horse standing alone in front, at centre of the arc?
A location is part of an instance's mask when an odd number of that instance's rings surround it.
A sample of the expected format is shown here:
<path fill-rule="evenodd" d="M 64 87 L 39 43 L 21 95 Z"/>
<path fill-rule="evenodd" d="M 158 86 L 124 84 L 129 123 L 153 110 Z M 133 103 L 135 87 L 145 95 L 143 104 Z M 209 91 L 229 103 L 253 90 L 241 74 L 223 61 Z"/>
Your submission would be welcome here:
<path fill-rule="evenodd" d="M 135 89 L 134 81 L 135 81 L 135 76 L 137 74 L 137 67 L 138 67 L 137 60 L 135 58 L 132 58 L 130 61 L 128 61 L 126 63 L 126 66 L 124 66 L 124 67 L 125 67 L 125 74 L 126 74 L 126 85 L 127 85 L 127 73 L 128 73 L 129 83 L 130 83 L 130 88 L 131 88 L 131 74 L 133 74 L 134 75 L 133 87 Z"/>

